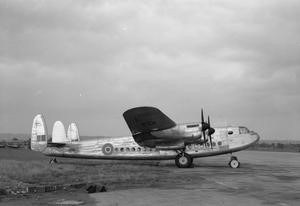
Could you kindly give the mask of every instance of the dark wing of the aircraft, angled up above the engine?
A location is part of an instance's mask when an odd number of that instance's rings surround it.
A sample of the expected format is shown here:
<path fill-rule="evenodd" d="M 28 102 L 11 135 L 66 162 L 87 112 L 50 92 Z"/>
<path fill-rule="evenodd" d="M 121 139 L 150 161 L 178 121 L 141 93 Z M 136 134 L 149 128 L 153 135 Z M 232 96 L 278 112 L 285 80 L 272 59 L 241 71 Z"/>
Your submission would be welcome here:
<path fill-rule="evenodd" d="M 136 107 L 124 112 L 123 117 L 133 136 L 160 131 L 176 123 L 155 107 Z"/>

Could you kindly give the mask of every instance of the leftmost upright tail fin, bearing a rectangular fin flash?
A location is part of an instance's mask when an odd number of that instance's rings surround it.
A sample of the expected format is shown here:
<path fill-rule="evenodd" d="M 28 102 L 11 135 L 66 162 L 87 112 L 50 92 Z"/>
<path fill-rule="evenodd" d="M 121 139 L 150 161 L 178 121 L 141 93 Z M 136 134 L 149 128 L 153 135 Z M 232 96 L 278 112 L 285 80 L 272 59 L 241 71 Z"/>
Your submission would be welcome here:
<path fill-rule="evenodd" d="M 34 117 L 31 130 L 30 148 L 34 151 L 43 151 L 47 147 L 47 126 L 43 115 Z"/>

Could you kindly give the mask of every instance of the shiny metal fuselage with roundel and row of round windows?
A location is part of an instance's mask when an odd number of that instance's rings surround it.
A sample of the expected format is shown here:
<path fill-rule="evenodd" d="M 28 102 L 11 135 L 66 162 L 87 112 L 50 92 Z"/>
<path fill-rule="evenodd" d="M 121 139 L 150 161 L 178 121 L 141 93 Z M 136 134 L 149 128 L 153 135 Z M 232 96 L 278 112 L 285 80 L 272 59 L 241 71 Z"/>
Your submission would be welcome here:
<path fill-rule="evenodd" d="M 184 137 L 191 141 L 201 135 L 197 126 L 186 127 L 186 125 L 184 130 L 182 126 L 182 132 L 179 128 L 176 131 L 156 131 L 155 135 L 170 134 L 170 138 L 176 138 L 176 133 L 178 133 L 178 138 L 185 135 Z M 212 145 L 209 142 L 187 144 L 185 152 L 194 158 L 221 155 L 246 149 L 258 140 L 259 135 L 250 132 L 246 127 L 219 127 L 215 128 L 215 133 L 212 135 Z M 55 157 L 115 160 L 166 160 L 174 159 L 177 155 L 176 150 L 140 146 L 132 136 L 81 139 L 76 142 L 67 142 L 62 147 L 46 147 L 42 152 Z"/>

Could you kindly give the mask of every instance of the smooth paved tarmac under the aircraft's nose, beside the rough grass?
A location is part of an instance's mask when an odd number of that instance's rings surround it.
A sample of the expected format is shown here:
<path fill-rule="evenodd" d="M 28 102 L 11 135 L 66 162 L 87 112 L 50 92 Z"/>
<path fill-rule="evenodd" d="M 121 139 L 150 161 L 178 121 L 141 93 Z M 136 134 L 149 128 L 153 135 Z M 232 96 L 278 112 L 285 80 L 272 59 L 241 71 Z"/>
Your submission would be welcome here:
<path fill-rule="evenodd" d="M 149 166 L 148 173 L 161 170 L 153 182 L 123 183 L 114 190 L 107 185 L 104 193 L 37 194 L 0 205 L 300 205 L 300 153 L 242 151 L 235 156 L 241 162 L 238 169 L 227 165 L 229 155 L 195 159 L 189 169 L 162 161 Z"/>

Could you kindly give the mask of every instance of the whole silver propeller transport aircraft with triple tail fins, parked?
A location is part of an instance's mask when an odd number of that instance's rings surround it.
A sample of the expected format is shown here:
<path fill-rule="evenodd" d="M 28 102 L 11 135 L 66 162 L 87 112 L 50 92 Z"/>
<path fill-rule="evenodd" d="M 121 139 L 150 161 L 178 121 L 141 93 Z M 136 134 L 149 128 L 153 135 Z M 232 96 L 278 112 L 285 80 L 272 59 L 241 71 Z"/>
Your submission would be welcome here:
<path fill-rule="evenodd" d="M 259 135 L 246 127 L 212 128 L 209 117 L 207 122 L 204 121 L 203 110 L 202 121 L 190 124 L 176 124 L 154 107 L 132 108 L 123 116 L 132 136 L 79 140 L 73 135 L 68 138 L 62 123 L 56 122 L 50 141 L 43 116 L 37 115 L 32 126 L 31 149 L 47 156 L 66 158 L 175 159 L 179 168 L 191 167 L 193 158 L 231 154 L 229 166 L 237 168 L 240 163 L 232 153 L 244 150 L 259 140 Z M 75 134 L 78 135 L 77 127 Z"/>

